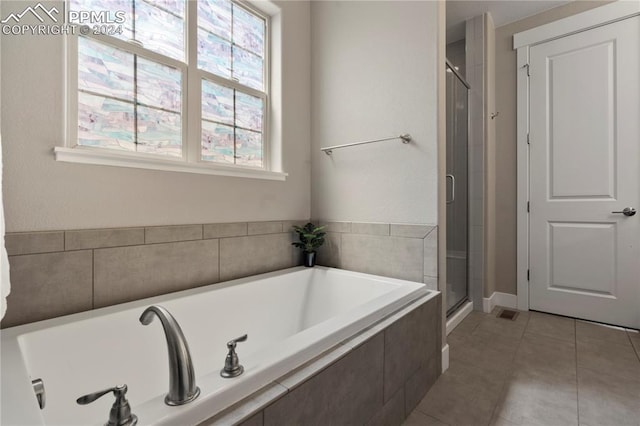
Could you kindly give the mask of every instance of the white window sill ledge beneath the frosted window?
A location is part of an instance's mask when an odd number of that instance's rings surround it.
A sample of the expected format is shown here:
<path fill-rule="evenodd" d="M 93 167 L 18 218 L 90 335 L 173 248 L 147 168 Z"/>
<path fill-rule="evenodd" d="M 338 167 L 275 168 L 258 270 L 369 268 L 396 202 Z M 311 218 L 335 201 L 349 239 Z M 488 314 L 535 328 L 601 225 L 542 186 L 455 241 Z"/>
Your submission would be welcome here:
<path fill-rule="evenodd" d="M 97 164 L 101 166 L 132 167 L 136 169 L 279 181 L 284 181 L 288 176 L 288 174 L 284 172 L 259 170 L 242 166 L 186 163 L 182 160 L 131 155 L 118 151 L 96 150 L 84 147 L 65 148 L 58 146 L 53 149 L 53 154 L 56 161 L 64 161 L 67 163 Z"/>

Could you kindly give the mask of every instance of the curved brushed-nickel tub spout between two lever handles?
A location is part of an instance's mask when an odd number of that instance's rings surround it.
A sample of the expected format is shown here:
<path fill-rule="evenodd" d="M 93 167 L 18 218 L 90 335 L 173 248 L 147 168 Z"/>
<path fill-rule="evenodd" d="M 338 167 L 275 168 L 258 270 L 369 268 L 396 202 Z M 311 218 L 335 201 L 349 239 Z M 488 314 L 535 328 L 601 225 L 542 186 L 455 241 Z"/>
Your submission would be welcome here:
<path fill-rule="evenodd" d="M 162 306 L 149 306 L 140 315 L 140 322 L 143 325 L 151 324 L 154 314 L 162 323 L 169 351 L 169 393 L 164 402 L 167 405 L 186 404 L 200 395 L 187 340 L 176 319 Z"/>

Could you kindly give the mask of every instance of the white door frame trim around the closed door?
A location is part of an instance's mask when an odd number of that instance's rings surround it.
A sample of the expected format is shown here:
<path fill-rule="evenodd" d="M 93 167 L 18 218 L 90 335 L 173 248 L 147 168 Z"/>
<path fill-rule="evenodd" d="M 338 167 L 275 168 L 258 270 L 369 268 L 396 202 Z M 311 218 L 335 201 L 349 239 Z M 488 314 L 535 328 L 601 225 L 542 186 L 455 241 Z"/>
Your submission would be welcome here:
<path fill-rule="evenodd" d="M 640 16 L 640 2 L 617 1 L 513 36 L 517 50 L 517 308 L 529 310 L 529 50 L 557 38 Z M 532 206 L 535 208 L 535 206 Z"/>

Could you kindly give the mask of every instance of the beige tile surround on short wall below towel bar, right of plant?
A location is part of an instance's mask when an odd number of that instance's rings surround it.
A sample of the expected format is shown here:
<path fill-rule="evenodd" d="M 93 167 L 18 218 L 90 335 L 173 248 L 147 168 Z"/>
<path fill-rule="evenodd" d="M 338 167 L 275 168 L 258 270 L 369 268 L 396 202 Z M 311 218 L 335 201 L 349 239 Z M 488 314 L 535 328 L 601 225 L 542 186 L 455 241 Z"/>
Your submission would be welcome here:
<path fill-rule="evenodd" d="M 437 290 L 438 227 L 427 224 L 332 222 L 318 264 L 423 282 Z"/>

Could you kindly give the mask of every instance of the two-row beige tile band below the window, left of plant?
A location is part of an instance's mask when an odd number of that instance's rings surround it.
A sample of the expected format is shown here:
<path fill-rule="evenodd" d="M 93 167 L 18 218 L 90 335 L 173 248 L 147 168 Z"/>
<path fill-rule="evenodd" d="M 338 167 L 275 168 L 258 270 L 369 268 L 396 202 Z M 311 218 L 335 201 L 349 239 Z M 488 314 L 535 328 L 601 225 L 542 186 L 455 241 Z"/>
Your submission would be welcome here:
<path fill-rule="evenodd" d="M 10 233 L 2 328 L 302 264 L 307 220 Z"/>

